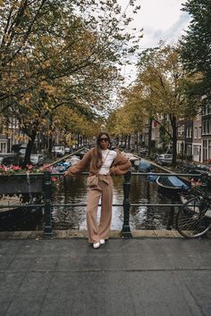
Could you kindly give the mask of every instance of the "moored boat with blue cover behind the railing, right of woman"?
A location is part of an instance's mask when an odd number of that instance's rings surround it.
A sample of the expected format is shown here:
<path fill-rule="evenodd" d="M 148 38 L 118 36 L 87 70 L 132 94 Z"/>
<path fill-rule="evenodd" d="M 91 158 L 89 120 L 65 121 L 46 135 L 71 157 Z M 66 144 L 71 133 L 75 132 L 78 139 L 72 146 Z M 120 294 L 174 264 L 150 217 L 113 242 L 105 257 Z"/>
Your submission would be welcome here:
<path fill-rule="evenodd" d="M 159 176 L 156 179 L 156 184 L 166 192 L 184 192 L 190 189 L 187 184 L 176 176 Z"/>

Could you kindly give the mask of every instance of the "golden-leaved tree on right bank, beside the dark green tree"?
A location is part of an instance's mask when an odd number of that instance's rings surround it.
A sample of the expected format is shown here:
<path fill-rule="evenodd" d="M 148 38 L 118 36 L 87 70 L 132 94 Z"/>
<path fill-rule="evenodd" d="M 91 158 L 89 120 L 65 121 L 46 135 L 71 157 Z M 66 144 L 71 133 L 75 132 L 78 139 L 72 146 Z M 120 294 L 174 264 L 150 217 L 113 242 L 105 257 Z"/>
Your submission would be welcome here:
<path fill-rule="evenodd" d="M 163 125 L 163 133 L 173 141 L 173 163 L 176 162 L 177 123 L 187 113 L 184 95 L 186 72 L 177 47 L 148 49 L 140 56 L 137 85 L 142 87 L 142 100 L 149 119 Z M 160 118 L 169 117 L 172 130 L 166 129 Z"/>

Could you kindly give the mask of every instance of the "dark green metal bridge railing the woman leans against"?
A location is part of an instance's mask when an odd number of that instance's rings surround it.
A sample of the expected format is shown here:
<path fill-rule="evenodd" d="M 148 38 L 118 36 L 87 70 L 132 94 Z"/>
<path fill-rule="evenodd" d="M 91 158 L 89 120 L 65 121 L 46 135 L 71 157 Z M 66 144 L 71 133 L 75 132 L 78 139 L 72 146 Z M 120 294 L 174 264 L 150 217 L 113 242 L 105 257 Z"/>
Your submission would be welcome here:
<path fill-rule="evenodd" d="M 82 174 L 88 175 L 88 172 L 82 172 Z M 114 206 L 122 206 L 123 209 L 123 223 L 122 223 L 122 231 L 121 236 L 125 238 L 132 237 L 131 235 L 131 227 L 130 227 L 130 208 L 131 206 L 165 206 L 171 207 L 174 209 L 175 207 L 180 207 L 181 204 L 131 204 L 130 202 L 130 189 L 131 189 L 131 175 L 139 175 L 139 176 L 148 176 L 148 175 L 156 175 L 156 176 L 166 176 L 167 173 L 156 173 L 156 172 L 128 172 L 124 175 L 124 182 L 123 182 L 123 201 L 122 204 L 113 204 Z M 178 174 L 178 173 L 171 173 L 171 176 L 180 176 L 180 177 L 198 177 L 198 174 Z M 49 172 L 44 173 L 30 173 L 29 174 L 17 174 L 13 175 L 14 179 L 25 179 L 27 182 L 27 190 L 26 187 L 24 188 L 24 193 L 28 193 L 29 195 L 32 192 L 37 192 L 43 195 L 43 204 L 27 204 L 27 205 L 20 205 L 21 207 L 41 207 L 44 210 L 44 229 L 43 229 L 43 237 L 54 237 L 53 231 L 53 223 L 52 223 L 52 207 L 59 207 L 59 206 L 86 206 L 86 204 L 52 204 L 51 197 L 52 197 L 52 181 L 51 177 L 63 177 L 63 173 L 60 174 L 52 174 Z M 11 180 L 11 176 L 4 176 L 6 181 L 4 181 L 3 186 L 1 187 L 0 184 L 0 193 L 21 193 L 23 189 L 21 189 L 21 185 L 16 184 L 16 187 L 11 187 L 11 191 L 6 189 L 6 184 L 8 184 Z M 2 178 L 2 177 L 1 177 Z M 36 179 L 39 181 L 39 185 L 34 188 L 36 184 Z M 21 183 L 21 182 L 20 182 Z M 206 183 L 204 184 L 206 186 Z M 99 204 L 100 206 L 100 204 Z M 0 208 L 4 208 L 5 206 L 1 206 Z M 13 207 L 13 206 L 12 206 Z"/>

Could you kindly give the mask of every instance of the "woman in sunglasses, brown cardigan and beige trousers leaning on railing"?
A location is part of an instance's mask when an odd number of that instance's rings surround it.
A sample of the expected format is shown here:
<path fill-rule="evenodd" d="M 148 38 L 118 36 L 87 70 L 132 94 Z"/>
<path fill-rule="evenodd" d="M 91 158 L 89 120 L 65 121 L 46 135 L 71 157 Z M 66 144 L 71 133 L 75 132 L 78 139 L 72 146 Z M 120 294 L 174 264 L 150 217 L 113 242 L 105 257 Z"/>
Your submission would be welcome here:
<path fill-rule="evenodd" d="M 70 167 L 65 176 L 76 176 L 89 167 L 90 179 L 96 179 L 97 186 L 89 187 L 87 205 L 87 228 L 89 243 L 97 249 L 109 237 L 112 220 L 113 179 L 112 175 L 123 175 L 131 169 L 131 162 L 122 154 L 110 150 L 110 137 L 101 132 L 97 136 L 97 146 L 91 148 L 80 162 Z M 94 177 L 93 177 L 94 176 Z M 97 226 L 97 207 L 101 197 L 101 215 Z"/>

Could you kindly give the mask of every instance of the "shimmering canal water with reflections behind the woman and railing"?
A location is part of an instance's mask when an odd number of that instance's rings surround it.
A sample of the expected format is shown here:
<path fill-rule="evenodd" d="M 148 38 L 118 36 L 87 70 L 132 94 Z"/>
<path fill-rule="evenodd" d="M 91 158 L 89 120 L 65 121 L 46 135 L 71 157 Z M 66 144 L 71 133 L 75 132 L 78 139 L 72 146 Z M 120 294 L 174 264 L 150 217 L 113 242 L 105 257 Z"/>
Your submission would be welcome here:
<path fill-rule="evenodd" d="M 64 186 L 55 193 L 54 204 L 86 204 L 86 176 L 69 178 Z M 114 204 L 122 204 L 123 177 L 114 177 Z M 131 204 L 169 204 L 171 197 L 157 192 L 155 182 L 149 182 L 147 177 L 131 176 Z M 99 216 L 100 208 L 98 209 Z M 172 218 L 171 218 L 172 216 Z M 53 209 L 54 229 L 86 229 L 86 206 L 56 207 Z M 122 229 L 122 206 L 113 207 L 111 229 Z M 164 206 L 131 206 L 131 229 L 166 229 L 173 225 L 171 207 Z"/>

